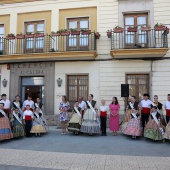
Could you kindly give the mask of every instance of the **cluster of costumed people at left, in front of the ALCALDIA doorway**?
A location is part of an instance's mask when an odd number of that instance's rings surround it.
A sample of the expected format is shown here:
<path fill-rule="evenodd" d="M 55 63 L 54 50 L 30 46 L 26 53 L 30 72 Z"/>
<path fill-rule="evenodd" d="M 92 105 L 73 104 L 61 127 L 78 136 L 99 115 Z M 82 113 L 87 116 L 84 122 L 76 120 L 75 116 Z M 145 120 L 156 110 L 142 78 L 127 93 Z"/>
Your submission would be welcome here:
<path fill-rule="evenodd" d="M 43 104 L 40 98 L 36 103 L 32 97 L 28 96 L 23 103 L 19 95 L 10 102 L 6 99 L 6 94 L 1 95 L 0 100 L 0 141 L 20 138 L 23 136 L 31 137 L 31 134 L 40 136 L 46 133 L 46 119 L 43 117 Z"/>

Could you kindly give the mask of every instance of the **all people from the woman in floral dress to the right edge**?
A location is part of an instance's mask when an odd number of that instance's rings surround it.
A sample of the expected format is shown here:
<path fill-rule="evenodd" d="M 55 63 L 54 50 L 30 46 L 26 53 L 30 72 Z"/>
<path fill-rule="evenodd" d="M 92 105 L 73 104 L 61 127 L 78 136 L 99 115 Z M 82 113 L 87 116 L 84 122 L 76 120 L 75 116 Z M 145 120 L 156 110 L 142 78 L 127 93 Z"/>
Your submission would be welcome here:
<path fill-rule="evenodd" d="M 61 134 L 66 134 L 66 129 L 74 134 L 87 133 L 101 134 L 107 136 L 107 117 L 109 117 L 110 131 L 116 136 L 120 129 L 125 135 L 132 138 L 144 136 L 154 141 L 170 139 L 170 94 L 165 102 L 166 120 L 163 116 L 163 105 L 158 102 L 158 96 L 154 96 L 154 102 L 149 99 L 149 94 L 143 95 L 143 100 L 138 103 L 136 97 L 130 97 L 124 114 L 122 123 L 119 123 L 120 105 L 117 97 L 113 97 L 109 106 L 106 105 L 104 99 L 101 100 L 100 107 L 93 100 L 93 95 L 88 96 L 88 100 L 83 101 L 83 97 L 79 97 L 74 104 L 74 109 L 69 119 L 70 104 L 66 96 L 62 96 L 60 103 L 60 122 Z"/>

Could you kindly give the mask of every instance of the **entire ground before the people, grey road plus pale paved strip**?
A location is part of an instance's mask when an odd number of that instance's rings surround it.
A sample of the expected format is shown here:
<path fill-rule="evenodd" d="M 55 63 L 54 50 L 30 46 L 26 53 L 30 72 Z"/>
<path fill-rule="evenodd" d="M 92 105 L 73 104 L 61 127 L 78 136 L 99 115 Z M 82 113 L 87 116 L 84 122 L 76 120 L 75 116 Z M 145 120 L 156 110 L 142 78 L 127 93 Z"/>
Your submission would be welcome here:
<path fill-rule="evenodd" d="M 170 141 L 118 136 L 61 135 L 0 143 L 0 170 L 170 170 Z"/>

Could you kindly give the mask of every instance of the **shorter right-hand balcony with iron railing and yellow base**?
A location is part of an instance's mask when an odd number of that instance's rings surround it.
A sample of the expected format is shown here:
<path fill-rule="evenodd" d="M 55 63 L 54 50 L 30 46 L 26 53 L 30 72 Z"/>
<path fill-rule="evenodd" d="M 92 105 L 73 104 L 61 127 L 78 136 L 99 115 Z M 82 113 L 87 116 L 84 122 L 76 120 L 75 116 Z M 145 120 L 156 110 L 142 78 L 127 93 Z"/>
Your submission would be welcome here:
<path fill-rule="evenodd" d="M 111 31 L 110 54 L 115 59 L 159 59 L 168 49 L 169 29 Z"/>

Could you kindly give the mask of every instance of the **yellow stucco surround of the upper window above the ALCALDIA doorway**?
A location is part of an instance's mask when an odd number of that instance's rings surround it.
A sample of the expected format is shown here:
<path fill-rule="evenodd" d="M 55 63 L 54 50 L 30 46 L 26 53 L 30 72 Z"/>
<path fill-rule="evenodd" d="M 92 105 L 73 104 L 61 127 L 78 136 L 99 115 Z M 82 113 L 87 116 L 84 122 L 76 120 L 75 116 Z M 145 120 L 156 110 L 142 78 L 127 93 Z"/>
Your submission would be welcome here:
<path fill-rule="evenodd" d="M 30 12 L 18 14 L 17 33 L 25 33 L 24 22 L 28 21 L 45 21 L 45 34 L 51 33 L 51 11 Z"/>

